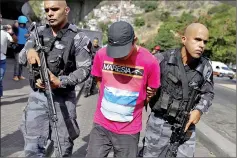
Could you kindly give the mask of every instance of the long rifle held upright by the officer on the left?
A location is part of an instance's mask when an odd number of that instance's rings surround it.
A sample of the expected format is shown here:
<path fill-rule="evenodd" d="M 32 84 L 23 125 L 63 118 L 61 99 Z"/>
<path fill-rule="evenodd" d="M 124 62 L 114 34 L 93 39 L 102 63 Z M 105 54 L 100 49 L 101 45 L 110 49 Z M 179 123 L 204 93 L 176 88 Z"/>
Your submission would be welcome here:
<path fill-rule="evenodd" d="M 53 96 L 52 96 L 52 88 L 50 85 L 50 77 L 49 77 L 49 70 L 47 68 L 47 63 L 45 59 L 45 52 L 46 52 L 46 47 L 44 47 L 44 42 L 42 36 L 39 36 L 38 29 L 36 26 L 36 22 L 32 22 L 32 24 L 29 27 L 29 31 L 33 33 L 35 36 L 35 44 L 36 44 L 36 51 L 38 52 L 39 58 L 40 58 L 40 65 L 35 66 L 35 65 L 30 65 L 30 76 L 35 78 L 35 74 L 39 74 L 40 79 L 42 80 L 42 83 L 45 86 L 44 92 L 45 96 L 48 101 L 48 108 L 49 108 L 49 117 L 52 119 L 53 122 L 53 131 L 55 132 L 55 137 L 56 137 L 56 148 L 58 150 L 59 156 L 62 157 L 62 149 L 61 145 L 59 142 L 59 136 L 58 136 L 58 129 L 57 129 L 57 113 L 53 101 Z M 33 85 L 31 85 L 33 86 Z"/>

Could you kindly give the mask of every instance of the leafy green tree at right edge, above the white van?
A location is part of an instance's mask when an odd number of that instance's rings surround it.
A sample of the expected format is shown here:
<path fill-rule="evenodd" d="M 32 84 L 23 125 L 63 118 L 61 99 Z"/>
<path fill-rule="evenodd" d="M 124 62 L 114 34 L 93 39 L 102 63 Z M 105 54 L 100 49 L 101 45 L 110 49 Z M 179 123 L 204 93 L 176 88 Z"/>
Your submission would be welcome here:
<path fill-rule="evenodd" d="M 211 51 L 210 57 L 224 63 L 236 63 L 236 8 L 220 5 L 210 10 L 211 20 L 203 20 L 209 28 L 207 50 Z"/>

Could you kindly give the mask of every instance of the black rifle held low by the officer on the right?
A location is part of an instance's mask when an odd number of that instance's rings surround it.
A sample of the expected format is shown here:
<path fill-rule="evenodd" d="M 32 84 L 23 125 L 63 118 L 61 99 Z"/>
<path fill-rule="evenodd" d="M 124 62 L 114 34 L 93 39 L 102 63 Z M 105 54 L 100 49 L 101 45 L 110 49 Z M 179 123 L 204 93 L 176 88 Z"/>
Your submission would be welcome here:
<path fill-rule="evenodd" d="M 161 157 L 176 157 L 178 147 L 187 140 L 187 133 L 184 132 L 184 129 L 189 120 L 189 113 L 198 99 L 198 92 L 199 89 L 197 87 L 194 87 L 191 91 L 191 96 L 188 102 L 183 102 L 183 104 L 186 105 L 181 105 L 181 107 L 183 108 L 176 116 L 178 123 L 174 123 L 171 127 L 172 134 L 170 137 L 170 142 L 169 145 L 167 145 L 167 147 L 162 151 Z"/>

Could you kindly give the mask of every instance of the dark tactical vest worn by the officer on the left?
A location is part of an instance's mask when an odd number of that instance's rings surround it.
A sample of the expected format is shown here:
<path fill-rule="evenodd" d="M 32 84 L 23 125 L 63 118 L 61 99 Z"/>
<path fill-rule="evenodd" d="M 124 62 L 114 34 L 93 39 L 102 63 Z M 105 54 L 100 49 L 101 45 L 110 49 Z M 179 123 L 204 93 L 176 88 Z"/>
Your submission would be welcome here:
<path fill-rule="evenodd" d="M 73 44 L 77 33 L 73 25 L 60 30 L 56 37 L 52 36 L 50 27 L 39 33 L 45 46 L 47 67 L 55 76 L 68 75 L 76 70 Z"/>

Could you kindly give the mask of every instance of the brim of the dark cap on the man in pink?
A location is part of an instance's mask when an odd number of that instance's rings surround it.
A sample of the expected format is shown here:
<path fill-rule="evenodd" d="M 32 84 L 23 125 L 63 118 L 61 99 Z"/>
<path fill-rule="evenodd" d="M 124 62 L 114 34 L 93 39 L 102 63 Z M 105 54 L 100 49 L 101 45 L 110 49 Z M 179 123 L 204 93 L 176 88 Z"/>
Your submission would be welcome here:
<path fill-rule="evenodd" d="M 129 54 L 132 48 L 132 42 L 124 46 L 107 46 L 107 55 L 111 58 L 123 58 Z"/>

